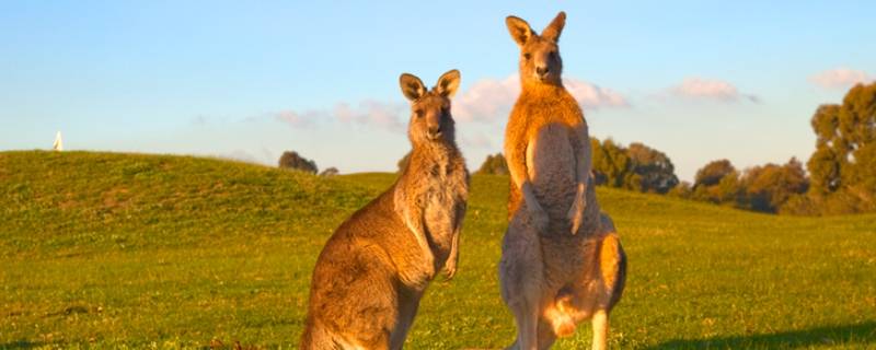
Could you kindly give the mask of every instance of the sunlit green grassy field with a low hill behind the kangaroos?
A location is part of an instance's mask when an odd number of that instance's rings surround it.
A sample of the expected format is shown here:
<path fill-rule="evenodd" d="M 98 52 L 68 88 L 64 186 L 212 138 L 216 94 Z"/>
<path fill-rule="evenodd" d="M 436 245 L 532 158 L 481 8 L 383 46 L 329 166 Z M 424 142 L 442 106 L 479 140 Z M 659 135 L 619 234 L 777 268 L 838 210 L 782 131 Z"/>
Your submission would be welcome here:
<path fill-rule="evenodd" d="M 293 348 L 323 243 L 392 174 L 0 152 L 0 349 Z M 474 176 L 451 282 L 408 349 L 502 348 L 507 178 Z M 876 348 L 876 215 L 742 212 L 600 188 L 630 257 L 620 349 Z M 557 343 L 589 346 L 589 327 Z"/>

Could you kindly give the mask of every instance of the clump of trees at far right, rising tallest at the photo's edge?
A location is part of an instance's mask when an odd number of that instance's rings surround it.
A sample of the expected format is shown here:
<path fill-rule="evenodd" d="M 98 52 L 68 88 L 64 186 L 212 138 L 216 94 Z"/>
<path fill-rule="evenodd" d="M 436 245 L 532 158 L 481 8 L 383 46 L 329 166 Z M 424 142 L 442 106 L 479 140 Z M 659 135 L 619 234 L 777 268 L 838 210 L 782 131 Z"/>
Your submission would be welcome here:
<path fill-rule="evenodd" d="M 721 160 L 696 173 L 690 197 L 789 214 L 876 211 L 876 82 L 855 85 L 841 105 L 818 107 L 811 127 L 816 150 L 806 162 L 808 177 L 796 159 L 741 176 Z"/>

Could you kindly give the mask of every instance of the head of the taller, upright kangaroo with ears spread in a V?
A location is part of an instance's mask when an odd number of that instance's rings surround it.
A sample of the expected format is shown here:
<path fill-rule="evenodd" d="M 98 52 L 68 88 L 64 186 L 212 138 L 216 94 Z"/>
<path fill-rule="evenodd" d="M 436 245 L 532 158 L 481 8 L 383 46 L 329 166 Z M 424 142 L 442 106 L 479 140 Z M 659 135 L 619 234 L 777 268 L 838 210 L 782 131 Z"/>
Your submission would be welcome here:
<path fill-rule="evenodd" d="M 520 47 L 520 81 L 523 84 L 561 84 L 563 60 L 560 58 L 560 33 L 566 24 L 566 13 L 560 12 L 551 24 L 537 34 L 527 21 L 509 15 L 505 19 L 511 38 Z"/>

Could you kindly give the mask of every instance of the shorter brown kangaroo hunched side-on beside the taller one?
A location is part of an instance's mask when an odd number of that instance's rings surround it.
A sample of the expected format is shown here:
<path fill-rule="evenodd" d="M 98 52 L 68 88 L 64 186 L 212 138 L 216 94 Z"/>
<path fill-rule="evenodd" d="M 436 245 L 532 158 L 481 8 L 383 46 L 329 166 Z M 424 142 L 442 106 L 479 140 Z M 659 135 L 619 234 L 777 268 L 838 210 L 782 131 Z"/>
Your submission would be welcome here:
<path fill-rule="evenodd" d="M 335 231 L 313 270 L 301 349 L 401 349 L 436 271 L 457 272 L 469 171 L 456 144 L 451 70 L 428 90 L 402 74 L 411 160 Z"/>

